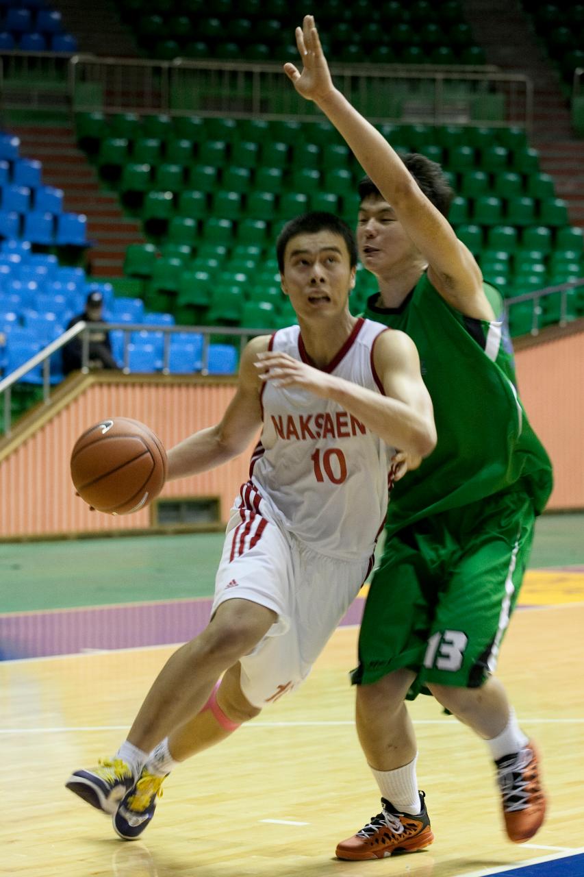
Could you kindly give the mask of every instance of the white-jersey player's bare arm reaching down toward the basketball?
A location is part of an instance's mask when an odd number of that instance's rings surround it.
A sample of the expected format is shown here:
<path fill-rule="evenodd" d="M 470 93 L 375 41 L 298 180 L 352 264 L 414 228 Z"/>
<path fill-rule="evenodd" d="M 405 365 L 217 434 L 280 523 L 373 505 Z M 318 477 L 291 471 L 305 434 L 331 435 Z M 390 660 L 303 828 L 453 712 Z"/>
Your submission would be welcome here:
<path fill-rule="evenodd" d="M 168 451 L 167 480 L 220 466 L 249 446 L 261 426 L 261 381 L 253 362 L 268 344 L 269 337 L 260 335 L 246 346 L 239 366 L 238 389 L 220 422 L 195 432 Z"/>

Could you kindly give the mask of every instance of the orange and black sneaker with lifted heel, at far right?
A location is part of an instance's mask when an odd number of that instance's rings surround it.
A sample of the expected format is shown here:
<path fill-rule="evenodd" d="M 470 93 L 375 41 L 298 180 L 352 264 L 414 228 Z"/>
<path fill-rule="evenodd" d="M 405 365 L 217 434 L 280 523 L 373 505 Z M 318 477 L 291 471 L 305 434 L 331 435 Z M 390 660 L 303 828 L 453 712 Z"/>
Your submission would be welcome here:
<path fill-rule="evenodd" d="M 545 818 L 538 753 L 530 740 L 519 752 L 504 755 L 495 764 L 505 829 L 509 840 L 523 844 L 539 830 Z"/>

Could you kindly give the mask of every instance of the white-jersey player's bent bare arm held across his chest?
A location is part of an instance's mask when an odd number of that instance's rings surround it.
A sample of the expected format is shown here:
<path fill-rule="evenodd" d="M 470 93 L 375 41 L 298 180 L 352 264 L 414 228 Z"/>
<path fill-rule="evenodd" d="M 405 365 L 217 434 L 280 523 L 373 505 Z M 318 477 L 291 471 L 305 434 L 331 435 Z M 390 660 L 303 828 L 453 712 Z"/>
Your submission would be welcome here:
<path fill-rule="evenodd" d="M 374 364 L 387 396 L 327 374 L 287 353 L 260 353 L 256 369 L 261 381 L 300 387 L 331 399 L 386 444 L 412 457 L 426 457 L 436 445 L 436 428 L 416 346 L 402 332 L 384 332 L 375 342 Z"/>

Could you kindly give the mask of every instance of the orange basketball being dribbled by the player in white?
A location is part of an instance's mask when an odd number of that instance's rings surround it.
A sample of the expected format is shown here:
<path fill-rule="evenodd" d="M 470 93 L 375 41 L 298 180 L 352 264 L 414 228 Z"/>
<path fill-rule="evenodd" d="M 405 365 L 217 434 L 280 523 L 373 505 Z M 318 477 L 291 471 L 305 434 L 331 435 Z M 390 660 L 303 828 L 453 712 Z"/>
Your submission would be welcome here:
<path fill-rule="evenodd" d="M 97 511 L 129 515 L 160 494 L 167 453 L 145 424 L 129 417 L 103 420 L 83 432 L 71 453 L 75 490 Z"/>

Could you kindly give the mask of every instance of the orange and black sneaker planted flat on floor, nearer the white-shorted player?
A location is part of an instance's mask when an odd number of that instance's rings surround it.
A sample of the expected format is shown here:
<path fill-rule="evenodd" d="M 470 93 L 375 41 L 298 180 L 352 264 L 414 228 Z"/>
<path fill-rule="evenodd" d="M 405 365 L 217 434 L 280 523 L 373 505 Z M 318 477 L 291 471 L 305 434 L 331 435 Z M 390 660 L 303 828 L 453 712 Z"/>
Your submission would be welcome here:
<path fill-rule="evenodd" d="M 381 798 L 381 813 L 373 816 L 353 838 L 343 840 L 337 847 L 338 859 L 385 859 L 395 852 L 411 852 L 430 846 L 434 839 L 430 819 L 420 792 L 421 811 L 417 816 L 401 813 Z"/>

